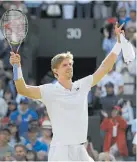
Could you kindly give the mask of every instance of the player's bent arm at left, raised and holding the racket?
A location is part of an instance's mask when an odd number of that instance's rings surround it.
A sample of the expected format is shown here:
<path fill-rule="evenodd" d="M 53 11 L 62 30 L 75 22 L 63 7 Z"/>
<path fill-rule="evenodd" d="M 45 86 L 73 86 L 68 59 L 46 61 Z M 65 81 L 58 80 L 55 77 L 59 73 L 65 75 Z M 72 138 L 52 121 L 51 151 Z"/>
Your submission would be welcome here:
<path fill-rule="evenodd" d="M 11 52 L 10 64 L 13 66 L 13 77 L 17 92 L 32 99 L 41 99 L 40 88 L 38 86 L 26 85 L 20 64 L 20 55 Z"/>

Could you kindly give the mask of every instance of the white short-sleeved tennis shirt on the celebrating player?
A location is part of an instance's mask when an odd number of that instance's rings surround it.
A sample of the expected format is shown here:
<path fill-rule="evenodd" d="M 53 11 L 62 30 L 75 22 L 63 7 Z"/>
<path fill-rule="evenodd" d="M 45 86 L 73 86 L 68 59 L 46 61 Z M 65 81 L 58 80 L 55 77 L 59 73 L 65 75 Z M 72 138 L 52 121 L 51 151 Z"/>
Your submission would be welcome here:
<path fill-rule="evenodd" d="M 73 145 L 87 141 L 88 92 L 93 76 L 72 83 L 72 89 L 65 89 L 59 82 L 39 86 L 41 101 L 47 108 L 52 124 L 51 145 Z"/>

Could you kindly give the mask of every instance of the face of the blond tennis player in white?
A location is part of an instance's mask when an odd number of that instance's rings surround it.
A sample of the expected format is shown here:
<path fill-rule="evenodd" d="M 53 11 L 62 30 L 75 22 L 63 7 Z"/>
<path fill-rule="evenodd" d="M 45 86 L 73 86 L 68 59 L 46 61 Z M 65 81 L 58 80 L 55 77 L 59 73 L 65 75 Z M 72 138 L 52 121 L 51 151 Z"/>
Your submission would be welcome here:
<path fill-rule="evenodd" d="M 55 69 L 55 73 L 57 73 L 58 78 L 63 79 L 72 79 L 73 77 L 73 60 L 66 58 L 61 64 Z"/>

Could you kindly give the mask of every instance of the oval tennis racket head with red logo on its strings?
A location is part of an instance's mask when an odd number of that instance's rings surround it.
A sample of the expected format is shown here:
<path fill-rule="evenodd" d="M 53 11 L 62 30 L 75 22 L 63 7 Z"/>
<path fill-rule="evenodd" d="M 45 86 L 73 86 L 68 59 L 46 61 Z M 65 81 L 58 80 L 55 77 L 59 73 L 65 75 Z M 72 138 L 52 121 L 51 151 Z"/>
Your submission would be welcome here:
<path fill-rule="evenodd" d="M 1 29 L 11 47 L 19 46 L 27 36 L 28 19 L 20 10 L 7 10 L 1 18 Z"/>

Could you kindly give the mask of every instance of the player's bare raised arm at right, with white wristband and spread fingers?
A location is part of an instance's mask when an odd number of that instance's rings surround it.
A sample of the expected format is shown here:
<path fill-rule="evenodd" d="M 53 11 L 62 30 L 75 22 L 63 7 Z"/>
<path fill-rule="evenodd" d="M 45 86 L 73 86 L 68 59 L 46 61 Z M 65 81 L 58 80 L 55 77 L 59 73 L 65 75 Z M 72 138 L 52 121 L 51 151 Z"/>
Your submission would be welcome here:
<path fill-rule="evenodd" d="M 123 25 L 124 24 L 118 27 L 118 23 L 116 23 L 115 33 L 117 36 L 117 42 L 113 47 L 113 49 L 111 50 L 110 54 L 103 60 L 100 67 L 93 74 L 93 83 L 91 85 L 92 87 L 96 85 L 109 71 L 111 71 L 113 65 L 115 64 L 117 57 L 121 52 L 120 33 L 124 34 L 124 31 L 121 30 Z"/>

